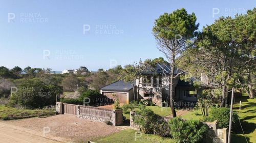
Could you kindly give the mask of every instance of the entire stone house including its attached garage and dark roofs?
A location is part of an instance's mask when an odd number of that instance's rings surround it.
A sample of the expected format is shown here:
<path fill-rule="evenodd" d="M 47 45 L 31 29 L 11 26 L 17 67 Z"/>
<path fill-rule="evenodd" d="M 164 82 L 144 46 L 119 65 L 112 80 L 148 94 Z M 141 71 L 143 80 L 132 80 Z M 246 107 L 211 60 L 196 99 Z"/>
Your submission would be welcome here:
<path fill-rule="evenodd" d="M 162 106 L 162 102 L 169 102 L 169 77 L 171 68 L 169 66 L 163 67 L 157 65 L 153 71 L 144 73 L 144 76 L 136 80 L 135 89 L 139 86 L 139 99 L 152 100 L 156 105 Z M 175 69 L 175 75 L 187 74 L 181 70 Z M 174 101 L 179 102 L 196 102 L 197 92 L 195 91 L 194 82 L 201 82 L 201 86 L 206 88 L 207 84 L 203 83 L 196 77 L 190 77 L 186 81 L 181 80 L 180 77 L 176 77 L 174 80 Z M 124 82 L 123 80 L 114 82 L 100 88 L 100 92 L 111 98 L 112 93 L 117 93 L 120 103 L 129 103 L 134 100 L 133 85 L 131 83 Z M 136 93 L 137 93 L 136 92 Z M 135 95 L 137 95 L 135 93 Z M 120 100 L 121 99 L 121 100 Z"/>

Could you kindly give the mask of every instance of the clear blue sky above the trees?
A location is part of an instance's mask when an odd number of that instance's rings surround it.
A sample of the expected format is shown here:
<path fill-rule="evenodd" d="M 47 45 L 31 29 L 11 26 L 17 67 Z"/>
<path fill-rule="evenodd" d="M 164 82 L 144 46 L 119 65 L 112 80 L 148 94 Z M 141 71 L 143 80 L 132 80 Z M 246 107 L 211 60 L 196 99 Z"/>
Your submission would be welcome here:
<path fill-rule="evenodd" d="M 163 13 L 185 8 L 199 30 L 220 16 L 245 14 L 255 1 L 3 1 L 0 66 L 12 69 L 85 66 L 96 71 L 159 58 L 152 35 Z"/>

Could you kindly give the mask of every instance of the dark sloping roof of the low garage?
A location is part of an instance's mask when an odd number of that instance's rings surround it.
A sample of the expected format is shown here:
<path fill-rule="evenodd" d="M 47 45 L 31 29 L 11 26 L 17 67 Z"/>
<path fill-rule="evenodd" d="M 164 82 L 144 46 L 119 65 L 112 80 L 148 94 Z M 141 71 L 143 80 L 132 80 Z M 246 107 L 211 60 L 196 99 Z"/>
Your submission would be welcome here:
<path fill-rule="evenodd" d="M 133 83 L 135 84 L 135 82 Z M 113 82 L 109 85 L 105 85 L 105 87 L 100 88 L 102 91 L 123 91 L 127 92 L 133 88 L 133 85 L 130 82 L 125 82 L 124 80 L 119 80 Z"/>

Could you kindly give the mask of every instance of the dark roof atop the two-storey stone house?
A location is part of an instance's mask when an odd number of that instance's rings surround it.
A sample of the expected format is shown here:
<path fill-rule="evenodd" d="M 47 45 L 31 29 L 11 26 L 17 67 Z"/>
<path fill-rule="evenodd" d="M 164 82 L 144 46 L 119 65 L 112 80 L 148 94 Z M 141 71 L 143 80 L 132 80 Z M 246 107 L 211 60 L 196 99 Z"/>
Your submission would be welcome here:
<path fill-rule="evenodd" d="M 152 71 L 147 71 L 145 74 L 169 74 L 172 72 L 172 68 L 170 65 L 165 65 L 165 64 L 157 64 L 156 68 Z M 182 73 L 182 70 L 178 70 L 174 68 L 174 74 Z"/>

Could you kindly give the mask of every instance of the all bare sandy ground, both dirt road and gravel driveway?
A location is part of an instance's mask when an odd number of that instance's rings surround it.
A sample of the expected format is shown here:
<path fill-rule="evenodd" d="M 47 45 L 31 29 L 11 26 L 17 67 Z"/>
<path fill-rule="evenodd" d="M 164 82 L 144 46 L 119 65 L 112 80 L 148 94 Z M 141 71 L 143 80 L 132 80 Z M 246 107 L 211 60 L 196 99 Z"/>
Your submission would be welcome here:
<path fill-rule="evenodd" d="M 88 141 L 118 131 L 120 129 L 104 123 L 79 119 L 71 115 L 57 115 L 48 118 L 0 121 L 0 142 Z"/>

